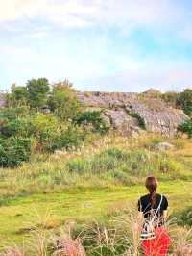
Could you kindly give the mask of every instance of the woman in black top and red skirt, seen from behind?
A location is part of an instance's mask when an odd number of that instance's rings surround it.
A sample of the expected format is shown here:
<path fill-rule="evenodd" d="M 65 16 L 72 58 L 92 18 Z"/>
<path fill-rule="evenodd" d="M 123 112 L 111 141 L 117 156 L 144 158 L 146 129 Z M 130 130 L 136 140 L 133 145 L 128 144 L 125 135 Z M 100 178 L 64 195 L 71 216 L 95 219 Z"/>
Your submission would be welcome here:
<path fill-rule="evenodd" d="M 167 198 L 156 193 L 157 180 L 146 178 L 148 194 L 138 200 L 139 216 L 142 218 L 141 245 L 145 256 L 166 256 L 169 248 L 169 235 L 164 227 L 167 215 Z"/>

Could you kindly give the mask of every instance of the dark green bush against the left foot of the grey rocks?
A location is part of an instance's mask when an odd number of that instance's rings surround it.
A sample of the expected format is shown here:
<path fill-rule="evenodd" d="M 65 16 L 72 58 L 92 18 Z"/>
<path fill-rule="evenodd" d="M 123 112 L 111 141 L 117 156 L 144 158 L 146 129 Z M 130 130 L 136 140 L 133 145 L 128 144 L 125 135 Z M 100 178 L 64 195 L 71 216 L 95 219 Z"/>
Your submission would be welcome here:
<path fill-rule="evenodd" d="M 92 125 L 91 131 L 105 134 L 108 132 L 108 125 L 102 118 L 101 111 L 85 111 L 76 116 L 75 122 L 78 125 Z"/>

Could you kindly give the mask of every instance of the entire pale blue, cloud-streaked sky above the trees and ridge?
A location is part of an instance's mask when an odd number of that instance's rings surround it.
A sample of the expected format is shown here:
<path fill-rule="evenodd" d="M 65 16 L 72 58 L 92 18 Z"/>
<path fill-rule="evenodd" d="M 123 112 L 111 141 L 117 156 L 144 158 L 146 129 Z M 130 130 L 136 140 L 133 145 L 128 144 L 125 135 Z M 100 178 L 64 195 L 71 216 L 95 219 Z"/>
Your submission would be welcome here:
<path fill-rule="evenodd" d="M 77 90 L 182 90 L 191 27 L 189 0 L 0 0 L 0 90 L 37 77 Z"/>

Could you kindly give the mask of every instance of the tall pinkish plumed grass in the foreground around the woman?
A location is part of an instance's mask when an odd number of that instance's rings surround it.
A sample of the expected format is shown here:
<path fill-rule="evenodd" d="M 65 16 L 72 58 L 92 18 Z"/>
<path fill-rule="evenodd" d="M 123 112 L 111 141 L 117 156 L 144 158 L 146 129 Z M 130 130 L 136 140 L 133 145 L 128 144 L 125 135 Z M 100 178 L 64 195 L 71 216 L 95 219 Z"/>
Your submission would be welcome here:
<path fill-rule="evenodd" d="M 180 227 L 176 219 L 167 221 L 171 237 L 169 254 L 192 255 L 192 229 Z M 47 232 L 45 226 L 36 227 L 23 247 L 5 248 L 1 256 L 141 256 L 141 222 L 132 206 L 108 220 L 78 226 L 67 222 L 62 228 Z"/>

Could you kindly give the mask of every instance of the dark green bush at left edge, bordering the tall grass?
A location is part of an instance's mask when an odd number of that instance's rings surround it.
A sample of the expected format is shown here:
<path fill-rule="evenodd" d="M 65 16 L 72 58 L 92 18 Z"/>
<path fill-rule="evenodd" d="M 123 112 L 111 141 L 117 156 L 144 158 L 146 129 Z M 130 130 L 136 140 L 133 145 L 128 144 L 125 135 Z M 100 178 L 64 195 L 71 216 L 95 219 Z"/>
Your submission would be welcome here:
<path fill-rule="evenodd" d="M 0 166 L 16 167 L 28 161 L 31 154 L 29 139 L 0 139 Z"/>

